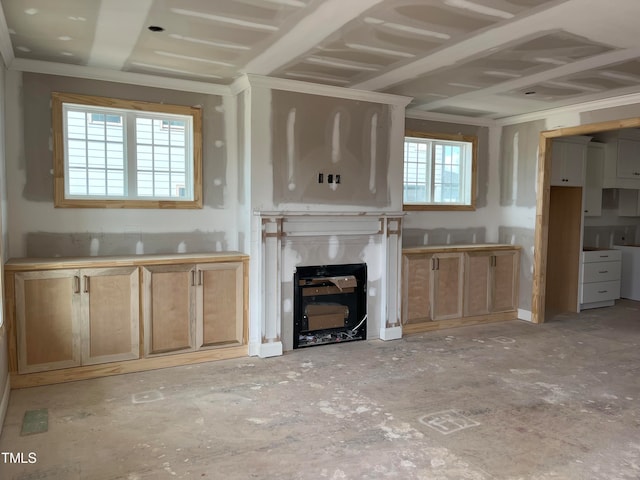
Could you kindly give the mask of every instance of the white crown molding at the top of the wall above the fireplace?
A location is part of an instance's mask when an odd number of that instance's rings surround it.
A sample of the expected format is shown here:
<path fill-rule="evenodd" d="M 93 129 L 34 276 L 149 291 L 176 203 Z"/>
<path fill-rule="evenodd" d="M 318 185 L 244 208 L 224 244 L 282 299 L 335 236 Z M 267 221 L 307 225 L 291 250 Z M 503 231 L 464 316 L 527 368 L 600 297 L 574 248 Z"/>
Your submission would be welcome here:
<path fill-rule="evenodd" d="M 384 103 L 405 107 L 411 102 L 411 97 L 393 95 L 390 93 L 370 92 L 355 88 L 335 87 L 333 85 L 321 85 L 318 83 L 301 82 L 285 78 L 265 77 L 263 75 L 247 74 L 249 84 L 253 87 L 265 87 L 273 90 L 286 90 L 289 92 L 308 93 L 310 95 L 326 95 L 328 97 L 345 98 L 364 102 Z"/>

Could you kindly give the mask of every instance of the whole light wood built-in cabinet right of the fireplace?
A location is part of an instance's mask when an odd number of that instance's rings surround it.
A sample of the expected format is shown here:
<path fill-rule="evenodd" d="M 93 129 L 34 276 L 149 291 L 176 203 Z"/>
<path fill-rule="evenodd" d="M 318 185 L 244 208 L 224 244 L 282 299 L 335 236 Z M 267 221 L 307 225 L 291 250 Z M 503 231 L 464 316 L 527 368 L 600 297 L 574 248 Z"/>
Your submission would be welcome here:
<path fill-rule="evenodd" d="M 511 245 L 404 249 L 403 331 L 516 318 L 519 263 Z"/>

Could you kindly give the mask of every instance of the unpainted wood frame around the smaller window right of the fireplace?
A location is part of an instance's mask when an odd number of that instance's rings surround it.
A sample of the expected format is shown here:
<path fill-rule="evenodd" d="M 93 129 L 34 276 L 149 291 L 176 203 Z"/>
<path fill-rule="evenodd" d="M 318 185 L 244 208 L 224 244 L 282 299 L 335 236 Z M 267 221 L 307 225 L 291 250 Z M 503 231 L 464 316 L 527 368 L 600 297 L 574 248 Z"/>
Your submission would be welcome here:
<path fill-rule="evenodd" d="M 404 203 L 404 173 L 402 175 L 402 210 L 403 211 L 474 211 L 476 209 L 477 191 L 477 170 L 478 170 L 478 137 L 476 135 L 448 134 L 448 133 L 428 133 L 415 130 L 405 130 L 407 137 L 425 138 L 429 140 L 446 140 L 454 142 L 468 142 L 471 144 L 471 175 L 470 175 L 470 197 L 469 204 L 447 204 L 447 203 Z M 404 141 L 403 141 L 404 145 Z M 402 168 L 404 172 L 404 151 L 402 154 Z"/>

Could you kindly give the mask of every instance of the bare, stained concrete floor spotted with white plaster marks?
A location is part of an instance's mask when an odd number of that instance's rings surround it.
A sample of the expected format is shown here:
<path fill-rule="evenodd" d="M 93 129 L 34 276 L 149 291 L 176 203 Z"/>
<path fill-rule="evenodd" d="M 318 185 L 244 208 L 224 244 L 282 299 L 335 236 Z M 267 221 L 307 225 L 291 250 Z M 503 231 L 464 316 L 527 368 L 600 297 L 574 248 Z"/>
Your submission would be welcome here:
<path fill-rule="evenodd" d="M 3 480 L 638 479 L 640 303 L 15 390 L 0 451 L 37 454 Z"/>

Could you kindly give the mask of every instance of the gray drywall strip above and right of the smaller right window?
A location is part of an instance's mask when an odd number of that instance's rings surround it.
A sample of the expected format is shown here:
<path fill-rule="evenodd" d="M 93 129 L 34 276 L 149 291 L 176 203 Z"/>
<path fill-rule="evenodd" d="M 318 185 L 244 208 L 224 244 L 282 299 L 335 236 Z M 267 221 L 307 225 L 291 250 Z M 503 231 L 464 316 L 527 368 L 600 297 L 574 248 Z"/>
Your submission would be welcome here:
<path fill-rule="evenodd" d="M 405 129 L 425 133 L 475 135 L 478 137 L 476 208 L 487 206 L 489 188 L 489 128 L 476 125 L 435 122 L 416 118 L 405 119 Z"/>

